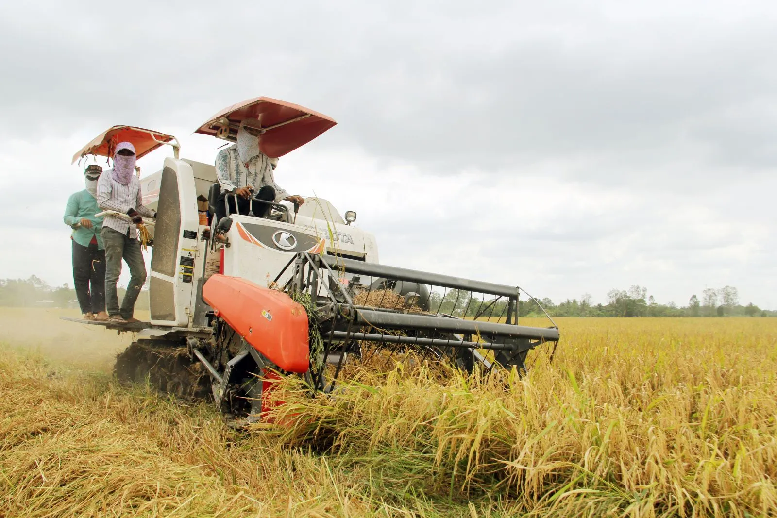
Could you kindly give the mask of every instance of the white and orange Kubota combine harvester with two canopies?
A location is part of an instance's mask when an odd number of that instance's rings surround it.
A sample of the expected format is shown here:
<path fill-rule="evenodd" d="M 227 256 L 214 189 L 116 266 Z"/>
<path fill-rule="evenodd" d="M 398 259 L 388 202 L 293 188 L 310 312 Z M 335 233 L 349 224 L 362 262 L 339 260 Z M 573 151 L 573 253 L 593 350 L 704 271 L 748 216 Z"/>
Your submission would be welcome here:
<path fill-rule="evenodd" d="M 247 118 L 262 123 L 260 148 L 270 157 L 336 124 L 258 97 L 222 110 L 197 133 L 234 142 Z M 214 166 L 179 158 L 171 135 L 112 127 L 74 162 L 111 156 L 120 141 L 131 141 L 138 157 L 164 144 L 174 150 L 161 171 L 141 180 L 145 205 L 159 214 L 148 221 L 155 223 L 150 322 L 70 319 L 138 333 L 117 358 L 120 379 L 148 377 L 163 391 L 210 397 L 223 412 L 254 420 L 267 412 L 265 396 L 280 376 L 298 375 L 313 393 L 329 392 L 350 367 L 394 354 L 468 372 L 525 370 L 531 349 L 559 340 L 555 325 L 518 325 L 520 288 L 379 264 L 375 238 L 351 226 L 356 213 L 343 218 L 321 198 L 301 207 L 270 203 L 263 218 L 228 213 L 200 221 L 198 200 L 215 214 Z"/>

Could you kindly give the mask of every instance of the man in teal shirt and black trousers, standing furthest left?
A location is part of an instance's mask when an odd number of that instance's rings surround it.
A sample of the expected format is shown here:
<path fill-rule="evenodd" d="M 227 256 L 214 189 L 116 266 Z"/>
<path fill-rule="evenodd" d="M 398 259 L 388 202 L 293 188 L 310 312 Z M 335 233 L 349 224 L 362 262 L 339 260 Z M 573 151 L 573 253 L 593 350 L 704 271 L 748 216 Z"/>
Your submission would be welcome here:
<path fill-rule="evenodd" d="M 73 193 L 64 209 L 64 224 L 73 229 L 70 236 L 73 252 L 75 297 L 85 320 L 107 320 L 105 312 L 105 250 L 100 238 L 103 218 L 97 200 L 97 179 L 103 168 L 92 164 L 84 171 L 86 189 Z"/>

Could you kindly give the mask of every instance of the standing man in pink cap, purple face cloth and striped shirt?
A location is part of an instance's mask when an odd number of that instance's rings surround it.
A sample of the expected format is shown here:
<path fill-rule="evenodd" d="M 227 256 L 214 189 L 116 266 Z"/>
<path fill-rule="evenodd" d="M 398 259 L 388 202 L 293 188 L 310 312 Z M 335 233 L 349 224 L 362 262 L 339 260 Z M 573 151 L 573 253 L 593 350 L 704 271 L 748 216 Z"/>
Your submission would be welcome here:
<path fill-rule="evenodd" d="M 135 172 L 135 148 L 129 142 L 120 142 L 113 155 L 113 169 L 108 169 L 97 183 L 97 204 L 103 210 L 115 210 L 128 218 L 106 215 L 100 235 L 105 245 L 105 295 L 108 322 L 126 324 L 138 322 L 134 318 L 135 302 L 145 283 L 146 270 L 138 224 L 145 217 L 156 217 L 155 211 L 141 203 L 141 182 Z M 130 283 L 119 307 L 116 283 L 121 273 L 121 260 L 130 268 Z"/>

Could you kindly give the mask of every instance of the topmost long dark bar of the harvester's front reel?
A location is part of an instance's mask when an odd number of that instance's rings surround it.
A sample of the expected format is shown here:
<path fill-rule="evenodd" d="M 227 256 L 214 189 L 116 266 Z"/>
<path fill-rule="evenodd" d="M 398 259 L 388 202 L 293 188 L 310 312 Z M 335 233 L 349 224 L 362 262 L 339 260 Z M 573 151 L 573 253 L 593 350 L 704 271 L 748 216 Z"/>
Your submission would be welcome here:
<path fill-rule="evenodd" d="M 464 279 L 443 275 L 441 273 L 421 272 L 415 269 L 387 266 L 375 262 L 362 262 L 354 259 L 345 259 L 338 256 L 321 256 L 320 260 L 335 269 L 344 269 L 347 273 L 361 273 L 374 277 L 409 281 L 421 284 L 433 284 L 435 286 L 454 288 L 457 290 L 477 291 L 480 293 L 497 295 L 500 297 L 517 298 L 518 287 L 504 284 L 487 283 L 481 280 Z"/>

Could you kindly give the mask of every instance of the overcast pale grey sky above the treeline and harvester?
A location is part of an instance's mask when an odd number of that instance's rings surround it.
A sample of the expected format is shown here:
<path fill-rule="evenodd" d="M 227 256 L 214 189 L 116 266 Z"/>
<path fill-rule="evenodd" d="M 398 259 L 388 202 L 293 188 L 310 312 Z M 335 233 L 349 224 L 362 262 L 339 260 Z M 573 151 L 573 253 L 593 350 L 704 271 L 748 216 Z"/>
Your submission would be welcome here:
<path fill-rule="evenodd" d="M 72 284 L 70 159 L 96 134 L 213 162 L 192 131 L 270 96 L 337 120 L 277 181 L 356 210 L 381 262 L 777 308 L 777 3 L 381 3 L 2 2 L 0 277 Z"/>

